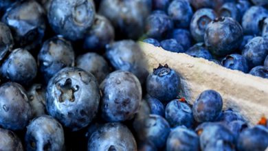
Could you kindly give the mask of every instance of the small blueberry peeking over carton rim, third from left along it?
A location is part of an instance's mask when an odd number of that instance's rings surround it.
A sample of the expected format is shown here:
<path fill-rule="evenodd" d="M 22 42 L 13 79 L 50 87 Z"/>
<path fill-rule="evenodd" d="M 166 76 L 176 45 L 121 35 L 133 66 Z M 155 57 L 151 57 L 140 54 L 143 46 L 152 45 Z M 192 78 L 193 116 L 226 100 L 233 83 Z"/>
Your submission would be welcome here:
<path fill-rule="evenodd" d="M 190 47 L 186 52 L 186 54 L 195 57 L 195 58 L 204 58 L 206 60 L 211 60 L 213 57 L 210 54 L 210 51 L 205 48 L 204 43 L 197 43 Z"/>

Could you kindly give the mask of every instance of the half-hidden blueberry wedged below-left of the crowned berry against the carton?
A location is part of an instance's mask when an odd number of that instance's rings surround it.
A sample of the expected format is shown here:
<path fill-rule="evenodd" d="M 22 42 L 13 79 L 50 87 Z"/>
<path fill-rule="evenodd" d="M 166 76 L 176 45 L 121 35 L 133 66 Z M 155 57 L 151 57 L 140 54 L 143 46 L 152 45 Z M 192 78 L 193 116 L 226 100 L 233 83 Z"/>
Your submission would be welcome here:
<path fill-rule="evenodd" d="M 159 100 L 157 100 L 154 97 L 151 97 L 150 95 L 146 95 L 144 100 L 146 100 L 146 102 L 150 108 L 150 114 L 160 115 L 160 116 L 164 117 L 165 108 L 164 108 L 164 105 Z"/>

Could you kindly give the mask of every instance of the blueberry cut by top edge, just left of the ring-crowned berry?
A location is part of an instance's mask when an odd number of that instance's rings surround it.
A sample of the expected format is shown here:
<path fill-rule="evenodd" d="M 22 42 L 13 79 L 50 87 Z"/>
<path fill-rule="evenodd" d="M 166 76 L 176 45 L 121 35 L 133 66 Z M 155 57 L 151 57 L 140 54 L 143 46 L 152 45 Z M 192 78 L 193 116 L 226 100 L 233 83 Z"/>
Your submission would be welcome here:
<path fill-rule="evenodd" d="M 168 6 L 168 16 L 175 27 L 188 28 L 192 19 L 192 8 L 188 1 L 174 0 Z"/>

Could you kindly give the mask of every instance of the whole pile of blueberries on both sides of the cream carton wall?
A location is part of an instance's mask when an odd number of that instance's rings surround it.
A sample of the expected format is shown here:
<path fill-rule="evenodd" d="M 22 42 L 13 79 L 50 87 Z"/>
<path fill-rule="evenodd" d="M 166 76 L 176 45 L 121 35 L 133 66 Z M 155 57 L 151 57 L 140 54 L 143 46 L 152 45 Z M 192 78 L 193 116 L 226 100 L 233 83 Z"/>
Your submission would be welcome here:
<path fill-rule="evenodd" d="M 267 6 L 1 0 L 0 150 L 265 150 L 265 117 L 250 125 L 214 90 L 189 104 L 179 73 L 148 73 L 135 40 L 268 78 Z"/>

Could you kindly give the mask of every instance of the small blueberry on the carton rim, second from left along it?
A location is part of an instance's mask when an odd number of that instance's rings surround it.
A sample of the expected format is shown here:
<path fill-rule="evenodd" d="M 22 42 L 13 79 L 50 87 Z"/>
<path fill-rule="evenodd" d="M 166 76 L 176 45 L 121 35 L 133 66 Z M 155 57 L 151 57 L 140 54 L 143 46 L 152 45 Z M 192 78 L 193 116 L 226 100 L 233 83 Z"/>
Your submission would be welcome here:
<path fill-rule="evenodd" d="M 185 51 L 175 39 L 161 40 L 160 45 L 163 49 L 171 52 L 181 53 Z"/>

